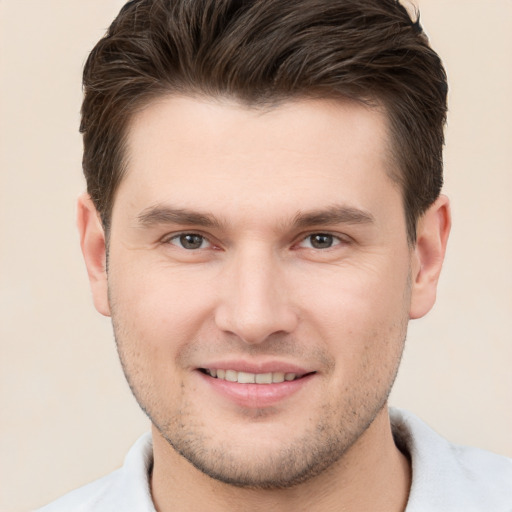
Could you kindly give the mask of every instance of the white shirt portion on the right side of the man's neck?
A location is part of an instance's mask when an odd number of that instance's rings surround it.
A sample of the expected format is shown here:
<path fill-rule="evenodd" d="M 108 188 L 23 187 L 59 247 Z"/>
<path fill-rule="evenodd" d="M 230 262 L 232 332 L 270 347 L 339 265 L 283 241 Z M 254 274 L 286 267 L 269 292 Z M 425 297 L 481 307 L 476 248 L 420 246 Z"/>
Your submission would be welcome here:
<path fill-rule="evenodd" d="M 412 463 L 407 512 L 512 510 L 512 459 L 452 444 L 406 411 L 392 409 L 390 416 Z"/>

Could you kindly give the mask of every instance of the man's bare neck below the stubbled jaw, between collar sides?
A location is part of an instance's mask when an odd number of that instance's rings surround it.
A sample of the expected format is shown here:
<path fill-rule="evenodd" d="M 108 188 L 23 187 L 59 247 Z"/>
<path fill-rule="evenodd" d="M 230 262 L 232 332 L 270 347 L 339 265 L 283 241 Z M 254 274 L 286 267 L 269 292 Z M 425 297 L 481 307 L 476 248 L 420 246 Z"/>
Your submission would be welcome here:
<path fill-rule="evenodd" d="M 411 482 L 385 407 L 342 459 L 289 489 L 246 489 L 214 480 L 177 454 L 153 428 L 151 491 L 158 512 L 263 510 L 403 512 Z"/>

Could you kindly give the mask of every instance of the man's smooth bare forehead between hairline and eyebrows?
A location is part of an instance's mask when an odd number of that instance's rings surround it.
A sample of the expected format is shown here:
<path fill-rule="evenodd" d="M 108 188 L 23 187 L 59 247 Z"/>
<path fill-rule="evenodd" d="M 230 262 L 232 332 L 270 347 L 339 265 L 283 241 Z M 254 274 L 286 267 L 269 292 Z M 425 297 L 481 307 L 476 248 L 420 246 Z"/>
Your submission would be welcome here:
<path fill-rule="evenodd" d="M 114 212 L 127 196 L 140 209 L 170 202 L 226 215 L 345 202 L 368 209 L 379 202 L 379 187 L 400 201 L 388 177 L 386 117 L 355 102 L 259 109 L 165 97 L 134 116 L 126 151 Z"/>

